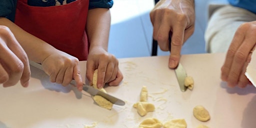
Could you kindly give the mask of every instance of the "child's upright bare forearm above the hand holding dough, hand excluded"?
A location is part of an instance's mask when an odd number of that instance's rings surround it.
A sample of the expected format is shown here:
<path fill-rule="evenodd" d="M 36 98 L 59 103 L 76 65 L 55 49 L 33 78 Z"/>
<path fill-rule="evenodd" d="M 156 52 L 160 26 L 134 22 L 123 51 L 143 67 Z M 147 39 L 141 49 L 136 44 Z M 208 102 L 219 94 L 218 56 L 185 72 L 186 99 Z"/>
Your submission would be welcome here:
<path fill-rule="evenodd" d="M 90 48 L 102 47 L 107 50 L 110 29 L 110 11 L 107 8 L 89 9 L 86 32 Z"/>

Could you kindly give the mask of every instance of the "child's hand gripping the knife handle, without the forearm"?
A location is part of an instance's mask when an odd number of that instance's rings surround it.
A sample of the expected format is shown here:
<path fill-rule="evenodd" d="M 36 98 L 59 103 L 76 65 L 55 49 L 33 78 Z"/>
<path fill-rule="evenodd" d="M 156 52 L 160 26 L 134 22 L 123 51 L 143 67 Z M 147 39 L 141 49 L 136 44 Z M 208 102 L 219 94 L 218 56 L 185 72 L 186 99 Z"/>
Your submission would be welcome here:
<path fill-rule="evenodd" d="M 66 86 L 74 79 L 78 90 L 82 90 L 82 77 L 78 62 L 76 57 L 57 50 L 47 56 L 41 64 L 51 82 Z"/>

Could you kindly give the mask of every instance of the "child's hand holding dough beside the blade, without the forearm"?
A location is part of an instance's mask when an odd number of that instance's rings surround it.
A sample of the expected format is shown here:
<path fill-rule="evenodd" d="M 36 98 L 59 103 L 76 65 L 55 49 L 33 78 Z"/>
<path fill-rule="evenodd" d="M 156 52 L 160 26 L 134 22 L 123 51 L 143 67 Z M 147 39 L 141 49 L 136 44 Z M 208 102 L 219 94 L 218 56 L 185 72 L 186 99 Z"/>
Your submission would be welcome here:
<path fill-rule="evenodd" d="M 102 88 L 105 83 L 108 83 L 110 86 L 118 85 L 123 78 L 118 68 L 118 60 L 100 47 L 90 48 L 88 54 L 86 77 L 90 84 L 92 84 L 92 76 L 95 69 L 98 69 L 98 88 Z"/>

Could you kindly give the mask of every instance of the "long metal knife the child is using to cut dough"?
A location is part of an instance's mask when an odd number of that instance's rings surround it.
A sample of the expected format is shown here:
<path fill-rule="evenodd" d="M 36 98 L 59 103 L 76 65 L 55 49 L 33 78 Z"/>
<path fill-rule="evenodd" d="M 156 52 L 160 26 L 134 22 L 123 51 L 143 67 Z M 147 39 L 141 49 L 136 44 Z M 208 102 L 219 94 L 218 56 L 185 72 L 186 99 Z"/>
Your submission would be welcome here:
<path fill-rule="evenodd" d="M 29 64 L 32 65 L 32 66 L 34 66 L 34 67 L 36 67 L 36 68 L 38 68 L 38 69 L 43 70 L 41 64 L 39 64 L 39 63 L 36 63 L 36 62 L 34 62 L 34 61 L 30 61 L 30 60 L 29 60 Z M 74 79 L 72 79 L 70 83 L 73 84 L 73 85 L 76 85 Z M 82 90 L 88 92 L 88 93 L 91 94 L 92 96 L 94 96 L 94 95 L 100 95 L 100 96 L 104 97 L 105 99 L 107 99 L 108 101 L 110 101 L 110 102 L 113 103 L 113 104 L 116 104 L 116 105 L 125 105 L 125 102 L 124 102 L 123 100 L 118 99 L 118 98 L 116 98 L 116 97 L 114 97 L 114 96 L 112 96 L 112 95 L 110 95 L 110 94 L 104 93 L 104 92 L 102 92 L 102 91 L 100 91 L 100 90 L 98 90 L 98 89 L 96 89 L 96 88 L 94 88 L 94 87 L 92 87 L 92 86 L 86 85 L 86 84 L 84 84 L 84 83 L 83 83 Z"/>

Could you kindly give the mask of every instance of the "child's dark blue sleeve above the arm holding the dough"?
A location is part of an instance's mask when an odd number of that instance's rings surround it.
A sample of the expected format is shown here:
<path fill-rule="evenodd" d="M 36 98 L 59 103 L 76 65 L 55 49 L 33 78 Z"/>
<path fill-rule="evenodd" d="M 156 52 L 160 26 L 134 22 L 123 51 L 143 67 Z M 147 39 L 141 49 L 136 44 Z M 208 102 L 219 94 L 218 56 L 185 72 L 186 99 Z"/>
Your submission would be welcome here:
<path fill-rule="evenodd" d="M 113 0 L 89 0 L 89 9 L 92 8 L 111 8 Z"/>

